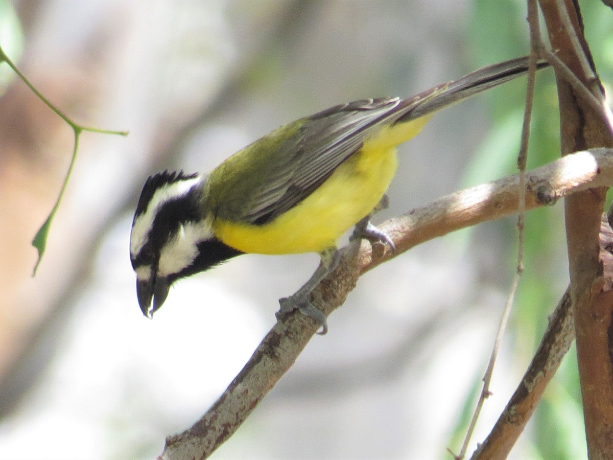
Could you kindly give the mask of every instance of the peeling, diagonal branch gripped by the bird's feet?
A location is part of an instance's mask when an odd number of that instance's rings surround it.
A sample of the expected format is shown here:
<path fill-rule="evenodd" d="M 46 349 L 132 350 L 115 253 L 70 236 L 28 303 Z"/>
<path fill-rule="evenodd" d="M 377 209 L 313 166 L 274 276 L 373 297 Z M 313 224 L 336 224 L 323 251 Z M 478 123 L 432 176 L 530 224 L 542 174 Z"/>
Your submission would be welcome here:
<path fill-rule="evenodd" d="M 527 174 L 526 209 L 612 184 L 613 149 L 577 152 Z M 397 251 L 384 252 L 383 245 L 375 245 L 373 251 L 365 242 L 344 248 L 337 269 L 314 291 L 314 304 L 329 315 L 345 301 L 362 273 L 419 243 L 516 213 L 518 196 L 519 175 L 514 175 L 452 193 L 387 221 L 380 228 L 392 237 Z M 206 458 L 213 453 L 294 364 L 317 329 L 313 319 L 300 313 L 278 321 L 218 401 L 194 426 L 168 437 L 159 458 Z"/>

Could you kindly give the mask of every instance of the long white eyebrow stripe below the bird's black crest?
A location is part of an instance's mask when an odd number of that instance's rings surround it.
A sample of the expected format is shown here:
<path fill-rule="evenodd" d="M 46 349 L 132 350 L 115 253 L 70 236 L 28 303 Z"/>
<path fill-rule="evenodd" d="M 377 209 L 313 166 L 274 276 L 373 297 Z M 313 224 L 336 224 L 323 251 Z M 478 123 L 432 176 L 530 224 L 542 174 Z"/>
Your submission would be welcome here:
<path fill-rule="evenodd" d="M 191 179 L 180 180 L 158 188 L 151 197 L 151 201 L 147 206 L 147 210 L 139 215 L 132 224 L 132 232 L 130 234 L 130 254 L 135 257 L 142 250 L 153 226 L 159 207 L 167 201 L 185 196 L 192 188 L 199 185 L 202 176 L 198 175 Z"/>

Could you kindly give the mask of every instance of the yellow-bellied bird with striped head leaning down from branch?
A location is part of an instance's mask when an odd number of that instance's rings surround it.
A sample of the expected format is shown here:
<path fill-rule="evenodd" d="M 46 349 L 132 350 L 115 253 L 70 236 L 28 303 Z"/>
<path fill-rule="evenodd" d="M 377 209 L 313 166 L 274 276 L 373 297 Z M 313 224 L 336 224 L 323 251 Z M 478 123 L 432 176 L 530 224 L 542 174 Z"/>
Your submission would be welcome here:
<path fill-rule="evenodd" d="M 538 61 L 537 68 L 548 66 Z M 311 291 L 338 264 L 337 240 L 394 242 L 370 223 L 387 205 L 395 147 L 443 107 L 528 72 L 528 56 L 483 67 L 410 98 L 362 99 L 292 121 L 206 174 L 163 171 L 145 181 L 130 235 L 143 315 L 153 318 L 170 286 L 245 253 L 316 252 L 321 263 L 278 316 L 300 310 L 327 332 Z"/>

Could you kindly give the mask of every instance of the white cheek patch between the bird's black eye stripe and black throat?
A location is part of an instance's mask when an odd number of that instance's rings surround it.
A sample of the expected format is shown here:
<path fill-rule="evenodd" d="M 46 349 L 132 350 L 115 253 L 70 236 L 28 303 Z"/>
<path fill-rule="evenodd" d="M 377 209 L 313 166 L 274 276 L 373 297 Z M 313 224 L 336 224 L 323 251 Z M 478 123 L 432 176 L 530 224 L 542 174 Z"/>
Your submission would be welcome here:
<path fill-rule="evenodd" d="M 198 255 L 197 244 L 213 236 L 210 224 L 189 222 L 179 227 L 177 234 L 162 248 L 158 276 L 167 277 L 185 269 Z"/>

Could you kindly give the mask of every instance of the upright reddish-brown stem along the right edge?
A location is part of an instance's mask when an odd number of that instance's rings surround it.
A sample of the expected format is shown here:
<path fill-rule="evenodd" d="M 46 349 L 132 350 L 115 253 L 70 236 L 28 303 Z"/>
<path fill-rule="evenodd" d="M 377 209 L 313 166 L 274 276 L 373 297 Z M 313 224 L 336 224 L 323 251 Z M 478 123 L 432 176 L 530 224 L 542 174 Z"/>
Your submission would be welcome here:
<path fill-rule="evenodd" d="M 540 4 L 555 55 L 598 102 L 590 103 L 592 98 L 585 97 L 586 91 L 577 90 L 576 84 L 554 67 L 562 155 L 585 148 L 611 147 L 610 112 L 583 34 L 579 5 L 575 0 L 540 0 Z M 613 360 L 609 353 L 613 299 L 603 286 L 599 254 L 606 191 L 594 187 L 565 200 L 570 291 L 590 459 L 611 458 L 613 454 Z"/>

